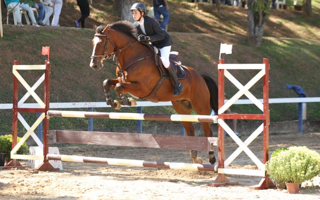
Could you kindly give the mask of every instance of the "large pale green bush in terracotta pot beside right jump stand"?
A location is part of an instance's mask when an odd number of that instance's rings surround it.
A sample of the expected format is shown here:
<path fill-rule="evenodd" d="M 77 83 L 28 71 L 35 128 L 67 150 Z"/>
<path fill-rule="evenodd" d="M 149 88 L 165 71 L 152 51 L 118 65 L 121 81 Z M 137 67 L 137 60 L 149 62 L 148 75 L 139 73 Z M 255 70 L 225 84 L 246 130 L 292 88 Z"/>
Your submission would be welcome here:
<path fill-rule="evenodd" d="M 319 174 L 320 154 L 306 146 L 290 146 L 271 156 L 265 170 L 273 180 L 284 181 L 289 193 L 297 193 L 299 184 Z"/>

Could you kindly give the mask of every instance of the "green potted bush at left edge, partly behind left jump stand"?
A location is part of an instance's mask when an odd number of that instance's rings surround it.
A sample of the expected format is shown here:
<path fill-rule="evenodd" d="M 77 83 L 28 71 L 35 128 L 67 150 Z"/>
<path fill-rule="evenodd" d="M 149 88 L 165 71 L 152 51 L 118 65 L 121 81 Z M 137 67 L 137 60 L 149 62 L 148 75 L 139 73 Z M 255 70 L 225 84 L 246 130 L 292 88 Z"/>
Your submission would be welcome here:
<path fill-rule="evenodd" d="M 21 137 L 17 137 L 17 142 L 19 142 Z M 0 153 L 5 153 L 5 158 L 10 159 L 10 151 L 12 149 L 12 134 L 0 135 Z M 26 154 L 28 146 L 25 142 L 17 150 L 17 154 Z M 4 164 L 4 163 L 3 163 Z"/>

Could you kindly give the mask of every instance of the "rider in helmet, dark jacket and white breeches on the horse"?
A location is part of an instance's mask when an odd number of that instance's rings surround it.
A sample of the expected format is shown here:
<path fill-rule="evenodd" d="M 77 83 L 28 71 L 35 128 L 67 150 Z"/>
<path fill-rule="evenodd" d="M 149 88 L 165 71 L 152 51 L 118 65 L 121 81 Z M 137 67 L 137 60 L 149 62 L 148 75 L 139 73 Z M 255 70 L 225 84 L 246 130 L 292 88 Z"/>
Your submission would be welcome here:
<path fill-rule="evenodd" d="M 160 27 L 155 19 L 145 15 L 146 7 L 143 3 L 134 3 L 130 10 L 132 11 L 133 19 L 135 20 L 134 25 L 138 30 L 138 40 L 150 41 L 153 46 L 160 50 L 162 64 L 168 71 L 173 82 L 173 95 L 176 96 L 181 94 L 183 86 L 178 80 L 169 61 L 169 54 L 172 45 L 170 35 Z"/>

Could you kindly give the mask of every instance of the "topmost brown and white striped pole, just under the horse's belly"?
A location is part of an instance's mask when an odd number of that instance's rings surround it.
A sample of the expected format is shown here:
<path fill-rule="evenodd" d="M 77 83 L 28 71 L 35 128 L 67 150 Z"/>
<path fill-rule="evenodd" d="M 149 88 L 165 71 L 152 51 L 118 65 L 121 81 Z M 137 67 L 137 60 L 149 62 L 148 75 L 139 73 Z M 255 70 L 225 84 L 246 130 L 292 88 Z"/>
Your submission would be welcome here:
<path fill-rule="evenodd" d="M 143 114 L 129 112 L 88 112 L 88 111 L 63 111 L 48 110 L 47 116 L 82 117 L 82 118 L 108 118 L 108 119 L 135 119 L 135 120 L 158 120 L 158 121 L 194 121 L 194 122 L 217 122 L 218 116 L 189 115 L 189 114 Z"/>

